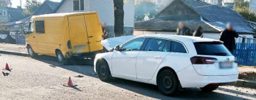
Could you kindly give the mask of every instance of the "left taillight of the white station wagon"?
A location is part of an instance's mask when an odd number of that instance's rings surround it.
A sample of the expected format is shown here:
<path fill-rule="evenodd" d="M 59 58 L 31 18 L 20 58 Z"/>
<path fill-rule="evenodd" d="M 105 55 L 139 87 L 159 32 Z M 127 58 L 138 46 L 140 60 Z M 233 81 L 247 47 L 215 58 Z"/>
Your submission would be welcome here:
<path fill-rule="evenodd" d="M 214 57 L 191 57 L 191 63 L 196 65 L 207 65 L 207 64 L 213 64 L 217 60 Z"/>

